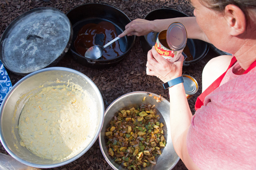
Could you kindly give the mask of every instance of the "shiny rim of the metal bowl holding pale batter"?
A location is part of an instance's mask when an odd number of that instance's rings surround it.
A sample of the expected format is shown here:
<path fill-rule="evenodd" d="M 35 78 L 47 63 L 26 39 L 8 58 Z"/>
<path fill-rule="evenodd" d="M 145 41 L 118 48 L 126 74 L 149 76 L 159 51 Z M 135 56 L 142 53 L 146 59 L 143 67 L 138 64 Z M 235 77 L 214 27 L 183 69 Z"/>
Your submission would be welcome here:
<path fill-rule="evenodd" d="M 11 93 L 18 88 L 18 86 L 20 85 L 20 83 L 26 81 L 28 78 L 31 78 L 33 76 L 35 76 L 36 74 L 42 73 L 42 72 L 46 72 L 46 71 L 54 71 L 54 70 L 58 70 L 58 71 L 68 71 L 74 74 L 77 74 L 78 76 L 85 78 L 85 80 L 92 85 L 93 89 L 95 90 L 95 94 L 98 95 L 100 97 L 100 102 L 101 102 L 101 108 L 100 108 L 100 115 L 101 117 L 99 118 L 99 127 L 98 129 L 96 129 L 95 132 L 95 136 L 92 138 L 92 141 L 87 145 L 86 148 L 84 148 L 84 150 L 82 150 L 81 152 L 79 152 L 78 154 L 74 155 L 72 158 L 69 159 L 65 159 L 63 161 L 60 161 L 59 163 L 53 163 L 53 164 L 36 164 L 36 163 L 32 163 L 29 162 L 27 160 L 21 159 L 20 157 L 16 156 L 16 154 L 14 152 L 12 152 L 12 150 L 8 147 L 8 144 L 6 143 L 6 140 L 4 138 L 3 135 L 3 129 L 0 128 L 0 141 L 2 143 L 2 145 L 4 146 L 4 149 L 16 160 L 18 160 L 19 162 L 28 165 L 28 166 L 32 166 L 32 167 L 37 167 L 37 168 L 53 168 L 53 167 L 58 167 L 58 166 L 63 166 L 66 165 L 70 162 L 73 162 L 74 160 L 78 159 L 79 157 L 81 157 L 82 155 L 84 155 L 91 147 L 92 145 L 95 143 L 95 141 L 97 140 L 101 128 L 103 126 L 103 121 L 104 121 L 104 102 L 102 99 L 102 95 L 100 93 L 100 90 L 98 89 L 98 87 L 94 84 L 94 82 L 88 78 L 86 75 L 84 75 L 83 73 L 81 73 L 80 71 L 74 70 L 74 69 L 70 69 L 70 68 L 66 68 L 66 67 L 50 67 L 50 68 L 44 68 L 41 70 L 37 70 L 35 72 L 32 72 L 30 74 L 28 74 L 27 76 L 21 78 L 15 85 L 13 85 L 13 87 L 11 88 L 11 90 L 7 93 L 6 97 L 3 100 L 2 105 L 0 106 L 0 127 L 2 127 L 2 121 L 3 121 L 3 110 L 4 107 L 6 105 L 6 101 L 10 98 Z"/>

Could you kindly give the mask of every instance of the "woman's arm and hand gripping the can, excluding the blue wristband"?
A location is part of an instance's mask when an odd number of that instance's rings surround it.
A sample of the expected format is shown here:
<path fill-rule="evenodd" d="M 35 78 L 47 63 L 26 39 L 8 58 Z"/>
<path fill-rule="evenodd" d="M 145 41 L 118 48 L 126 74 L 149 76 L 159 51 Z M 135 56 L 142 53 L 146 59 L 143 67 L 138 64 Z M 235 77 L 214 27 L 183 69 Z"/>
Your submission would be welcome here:
<path fill-rule="evenodd" d="M 155 47 L 148 52 L 147 74 L 159 77 L 167 82 L 182 75 L 184 56 L 174 63 L 165 60 L 157 53 Z M 187 150 L 187 134 L 192 113 L 190 111 L 183 83 L 169 88 L 170 124 L 173 147 L 188 169 L 198 169 Z"/>

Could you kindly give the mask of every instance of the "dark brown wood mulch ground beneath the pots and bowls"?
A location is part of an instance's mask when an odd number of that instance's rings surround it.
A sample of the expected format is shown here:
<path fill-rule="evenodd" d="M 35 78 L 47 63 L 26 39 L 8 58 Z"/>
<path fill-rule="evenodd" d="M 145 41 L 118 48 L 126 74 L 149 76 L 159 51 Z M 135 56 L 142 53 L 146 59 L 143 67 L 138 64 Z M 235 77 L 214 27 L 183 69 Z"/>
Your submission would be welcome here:
<path fill-rule="evenodd" d="M 85 3 L 98 3 L 99 0 L 51 0 L 44 2 L 43 0 L 0 0 L 0 37 L 3 35 L 6 27 L 18 16 L 26 11 L 38 7 L 54 7 L 64 13 L 67 13 L 72 8 Z M 103 0 L 120 8 L 124 13 L 131 18 L 144 18 L 145 15 L 163 6 L 168 6 L 178 11 L 182 11 L 189 16 L 193 16 L 193 9 L 188 0 Z M 201 93 L 202 89 L 202 70 L 204 65 L 215 57 L 216 54 L 210 49 L 206 57 L 196 64 L 183 68 L 183 74 L 188 74 L 194 77 L 198 84 L 198 92 L 188 100 L 189 106 L 194 114 L 194 105 L 196 97 Z M 147 91 L 162 95 L 168 100 L 168 90 L 164 90 L 162 81 L 156 77 L 146 74 L 147 55 L 142 51 L 140 38 L 136 37 L 136 42 L 132 47 L 131 52 L 116 66 L 105 69 L 92 69 L 77 63 L 70 52 L 68 52 L 61 61 L 56 65 L 78 70 L 88 76 L 98 86 L 103 100 L 105 109 L 116 98 L 134 91 Z M 7 70 L 9 77 L 14 85 L 23 76 L 16 75 Z M 3 145 L 0 143 L 0 152 L 8 154 Z M 104 159 L 97 140 L 92 148 L 83 156 L 75 161 L 52 170 L 80 170 L 80 169 L 112 169 Z M 180 160 L 173 168 L 175 170 L 187 169 Z"/>

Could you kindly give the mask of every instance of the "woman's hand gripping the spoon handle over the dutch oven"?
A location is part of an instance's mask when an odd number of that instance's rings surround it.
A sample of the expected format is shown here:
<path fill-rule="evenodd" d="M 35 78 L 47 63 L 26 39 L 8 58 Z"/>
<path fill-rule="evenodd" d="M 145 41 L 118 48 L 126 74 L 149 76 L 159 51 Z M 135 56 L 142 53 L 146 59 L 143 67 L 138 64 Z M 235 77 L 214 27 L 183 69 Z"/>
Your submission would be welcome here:
<path fill-rule="evenodd" d="M 128 35 L 128 36 L 146 35 L 146 34 L 152 32 L 152 30 L 149 28 L 150 22 L 151 21 L 148 21 L 146 19 L 140 19 L 140 18 L 135 19 L 125 26 L 124 32 L 121 33 L 120 35 L 118 35 L 118 37 L 121 38 L 125 35 Z"/>

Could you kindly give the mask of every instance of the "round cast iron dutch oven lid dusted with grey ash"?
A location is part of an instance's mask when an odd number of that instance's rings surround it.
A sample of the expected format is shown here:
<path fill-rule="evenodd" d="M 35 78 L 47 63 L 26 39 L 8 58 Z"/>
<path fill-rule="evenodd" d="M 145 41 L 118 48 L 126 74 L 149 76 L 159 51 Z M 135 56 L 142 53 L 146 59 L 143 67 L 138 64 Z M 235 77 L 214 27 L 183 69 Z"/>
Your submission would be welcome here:
<path fill-rule="evenodd" d="M 36 8 L 6 28 L 0 41 L 0 59 L 8 70 L 26 75 L 58 63 L 67 53 L 72 36 L 72 26 L 62 11 Z"/>

